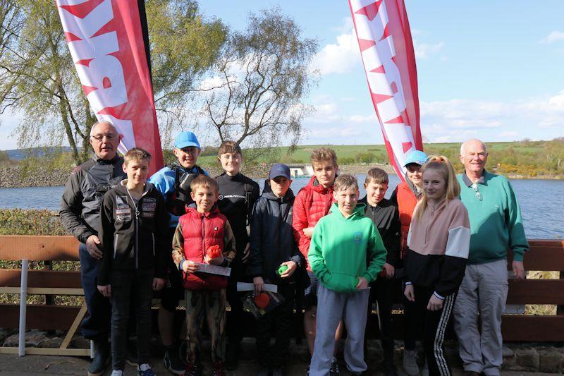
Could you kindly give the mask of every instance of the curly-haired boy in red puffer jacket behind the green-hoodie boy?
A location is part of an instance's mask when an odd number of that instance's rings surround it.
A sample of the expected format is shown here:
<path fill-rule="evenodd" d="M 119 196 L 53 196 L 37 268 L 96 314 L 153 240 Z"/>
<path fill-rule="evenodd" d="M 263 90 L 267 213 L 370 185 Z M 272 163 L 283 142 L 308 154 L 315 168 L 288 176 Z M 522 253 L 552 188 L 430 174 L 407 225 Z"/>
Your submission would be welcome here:
<path fill-rule="evenodd" d="M 310 161 L 314 176 L 307 186 L 298 192 L 294 201 L 294 216 L 292 219 L 295 241 L 298 243 L 298 248 L 300 248 L 300 252 L 306 261 L 309 243 L 312 241 L 313 228 L 321 217 L 329 214 L 329 209 L 334 202 L 333 183 L 339 168 L 335 151 L 326 147 L 313 150 Z M 312 355 L 315 342 L 315 315 L 317 314 L 319 282 L 312 273 L 309 262 L 307 262 L 307 274 L 309 276 L 309 287 L 305 289 L 304 329 L 309 354 Z M 338 332 L 340 331 L 338 330 Z M 331 370 L 338 372 L 336 361 L 333 361 Z"/>

